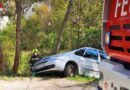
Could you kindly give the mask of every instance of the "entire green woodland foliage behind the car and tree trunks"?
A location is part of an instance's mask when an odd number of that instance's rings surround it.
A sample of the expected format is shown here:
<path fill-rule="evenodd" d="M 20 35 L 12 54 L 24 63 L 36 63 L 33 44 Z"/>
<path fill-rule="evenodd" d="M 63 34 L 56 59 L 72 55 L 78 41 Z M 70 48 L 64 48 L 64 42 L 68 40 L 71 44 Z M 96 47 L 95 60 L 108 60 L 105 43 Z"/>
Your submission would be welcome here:
<path fill-rule="evenodd" d="M 12 0 L 11 0 L 12 1 Z M 33 0 L 36 1 L 36 0 Z M 27 0 L 24 0 L 26 3 Z M 14 3 L 7 14 L 15 17 Z M 52 55 L 63 22 L 68 0 L 55 0 L 51 12 L 48 6 L 41 4 L 35 8 L 36 13 L 25 19 L 22 15 L 21 27 L 21 58 L 18 73 L 29 75 L 30 51 L 37 48 L 44 56 Z M 103 0 L 74 0 L 71 16 L 65 27 L 60 52 L 66 52 L 80 47 L 94 47 L 101 49 L 101 20 Z M 44 17 L 43 17 L 44 16 Z M 12 23 L 13 22 L 13 23 Z M 49 24 L 48 24 L 49 23 Z M 16 45 L 16 20 L 11 19 L 2 32 L 0 38 L 3 45 L 7 74 L 12 73 Z"/>

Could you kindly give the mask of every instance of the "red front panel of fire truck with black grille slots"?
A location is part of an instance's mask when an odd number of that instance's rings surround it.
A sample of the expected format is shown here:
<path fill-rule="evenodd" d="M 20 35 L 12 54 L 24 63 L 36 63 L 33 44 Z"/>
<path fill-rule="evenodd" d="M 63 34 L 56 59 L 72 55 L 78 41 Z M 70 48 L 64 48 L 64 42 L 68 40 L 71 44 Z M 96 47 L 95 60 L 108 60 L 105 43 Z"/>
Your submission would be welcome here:
<path fill-rule="evenodd" d="M 110 43 L 105 50 L 111 57 L 130 62 L 130 0 L 110 0 L 105 32 Z"/>

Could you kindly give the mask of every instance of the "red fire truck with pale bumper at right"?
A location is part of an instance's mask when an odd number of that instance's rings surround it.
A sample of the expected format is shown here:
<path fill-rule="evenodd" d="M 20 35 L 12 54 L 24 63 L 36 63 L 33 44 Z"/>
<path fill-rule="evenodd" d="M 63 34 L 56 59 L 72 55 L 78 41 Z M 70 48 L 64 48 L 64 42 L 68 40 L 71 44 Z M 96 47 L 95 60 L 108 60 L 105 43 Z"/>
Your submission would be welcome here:
<path fill-rule="evenodd" d="M 130 90 L 130 0 L 104 0 L 99 90 Z"/>

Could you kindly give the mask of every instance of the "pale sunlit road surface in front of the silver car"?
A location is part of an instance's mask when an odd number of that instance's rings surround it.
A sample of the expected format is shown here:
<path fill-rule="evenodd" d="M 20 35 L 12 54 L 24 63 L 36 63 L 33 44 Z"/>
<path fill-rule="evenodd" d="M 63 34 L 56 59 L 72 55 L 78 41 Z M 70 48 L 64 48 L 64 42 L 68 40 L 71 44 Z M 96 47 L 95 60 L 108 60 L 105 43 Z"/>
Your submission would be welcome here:
<path fill-rule="evenodd" d="M 0 80 L 0 90 L 95 90 L 96 83 L 81 83 L 66 78 L 30 78 L 15 81 Z"/>

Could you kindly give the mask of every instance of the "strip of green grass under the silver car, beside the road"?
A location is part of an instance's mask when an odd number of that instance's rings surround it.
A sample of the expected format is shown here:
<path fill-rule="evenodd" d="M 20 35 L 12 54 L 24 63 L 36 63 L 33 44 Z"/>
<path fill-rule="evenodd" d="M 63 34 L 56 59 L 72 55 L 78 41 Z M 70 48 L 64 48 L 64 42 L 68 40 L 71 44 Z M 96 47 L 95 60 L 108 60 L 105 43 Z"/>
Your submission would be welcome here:
<path fill-rule="evenodd" d="M 89 76 L 75 76 L 75 77 L 67 77 L 68 80 L 72 81 L 78 81 L 78 82 L 92 82 L 92 81 L 98 81 L 97 78 L 89 77 Z"/>

